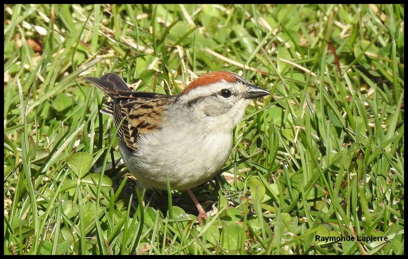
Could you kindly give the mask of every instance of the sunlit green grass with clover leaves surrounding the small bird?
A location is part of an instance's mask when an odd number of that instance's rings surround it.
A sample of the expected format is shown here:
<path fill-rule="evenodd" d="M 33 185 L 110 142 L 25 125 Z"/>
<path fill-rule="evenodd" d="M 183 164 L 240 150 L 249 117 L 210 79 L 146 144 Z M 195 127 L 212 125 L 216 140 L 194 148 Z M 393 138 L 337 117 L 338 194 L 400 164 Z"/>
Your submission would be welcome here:
<path fill-rule="evenodd" d="M 4 14 L 5 254 L 404 254 L 403 5 Z M 272 95 L 237 126 L 226 179 L 193 189 L 212 211 L 200 227 L 186 192 L 138 205 L 134 179 L 111 169 L 107 97 L 81 77 L 177 94 L 219 70 Z"/>

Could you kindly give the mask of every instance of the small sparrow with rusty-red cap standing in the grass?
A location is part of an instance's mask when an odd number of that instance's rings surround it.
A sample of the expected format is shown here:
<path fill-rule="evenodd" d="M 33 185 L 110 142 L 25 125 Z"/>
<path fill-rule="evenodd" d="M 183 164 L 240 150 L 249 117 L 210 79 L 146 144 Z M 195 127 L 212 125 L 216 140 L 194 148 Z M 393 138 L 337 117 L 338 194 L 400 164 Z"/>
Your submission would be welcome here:
<path fill-rule="evenodd" d="M 171 189 L 187 189 L 202 225 L 207 214 L 189 189 L 221 170 L 249 100 L 270 93 L 232 72 L 202 75 L 173 96 L 132 92 L 114 73 L 84 79 L 113 99 L 101 112 L 120 125 L 119 151 L 129 171 L 144 186 L 166 190 L 168 177 Z"/>

